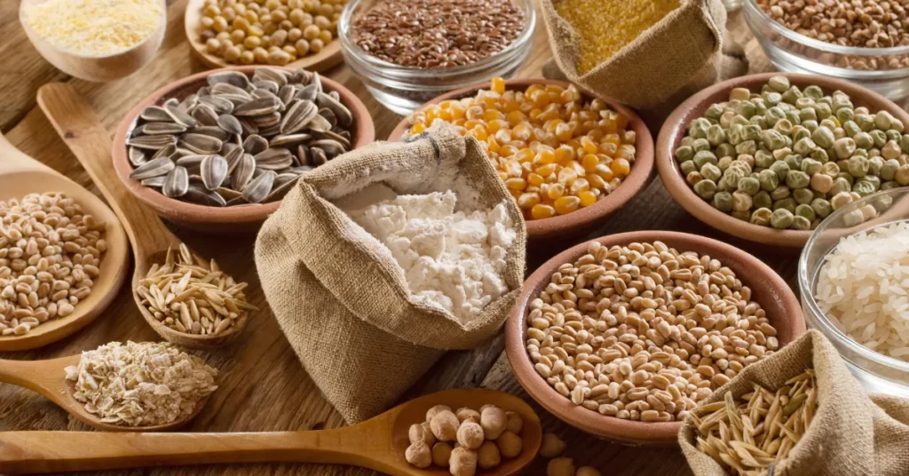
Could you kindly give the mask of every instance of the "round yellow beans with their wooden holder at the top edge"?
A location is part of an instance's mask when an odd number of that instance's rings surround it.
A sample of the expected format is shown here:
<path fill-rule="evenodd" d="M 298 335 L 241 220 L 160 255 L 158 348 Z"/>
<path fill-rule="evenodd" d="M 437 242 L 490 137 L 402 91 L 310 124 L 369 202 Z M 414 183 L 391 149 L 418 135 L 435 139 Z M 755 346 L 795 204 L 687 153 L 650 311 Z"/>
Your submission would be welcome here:
<path fill-rule="evenodd" d="M 342 61 L 337 22 L 347 0 L 190 0 L 186 38 L 207 66 L 323 71 Z"/>

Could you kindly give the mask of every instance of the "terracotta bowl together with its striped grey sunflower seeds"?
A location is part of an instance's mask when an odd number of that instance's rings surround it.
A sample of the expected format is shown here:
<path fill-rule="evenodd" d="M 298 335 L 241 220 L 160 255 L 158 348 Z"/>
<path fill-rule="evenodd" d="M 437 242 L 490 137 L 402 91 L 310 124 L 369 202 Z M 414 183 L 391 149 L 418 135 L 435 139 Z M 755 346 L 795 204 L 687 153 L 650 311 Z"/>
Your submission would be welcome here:
<path fill-rule="evenodd" d="M 235 66 L 145 97 L 114 137 L 114 167 L 159 216 L 255 231 L 307 171 L 375 139 L 353 92 L 302 69 Z"/>

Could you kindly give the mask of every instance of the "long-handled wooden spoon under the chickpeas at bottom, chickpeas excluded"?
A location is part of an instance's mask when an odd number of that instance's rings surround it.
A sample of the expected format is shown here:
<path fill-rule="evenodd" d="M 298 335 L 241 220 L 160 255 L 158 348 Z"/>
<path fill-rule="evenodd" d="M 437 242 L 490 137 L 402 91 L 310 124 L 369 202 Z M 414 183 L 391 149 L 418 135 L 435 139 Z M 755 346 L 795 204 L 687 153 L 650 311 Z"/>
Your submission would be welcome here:
<path fill-rule="evenodd" d="M 517 397 L 495 390 L 446 390 L 388 410 L 360 424 L 336 430 L 268 433 L 100 433 L 6 431 L 0 433 L 0 472 L 102 471 L 145 466 L 212 463 L 318 462 L 350 464 L 396 476 L 447 475 L 420 470 L 405 460 L 407 431 L 425 421 L 426 410 L 443 404 L 479 410 L 486 403 L 521 415 L 521 454 L 480 476 L 515 474 L 534 460 L 543 430 L 534 410 Z"/>

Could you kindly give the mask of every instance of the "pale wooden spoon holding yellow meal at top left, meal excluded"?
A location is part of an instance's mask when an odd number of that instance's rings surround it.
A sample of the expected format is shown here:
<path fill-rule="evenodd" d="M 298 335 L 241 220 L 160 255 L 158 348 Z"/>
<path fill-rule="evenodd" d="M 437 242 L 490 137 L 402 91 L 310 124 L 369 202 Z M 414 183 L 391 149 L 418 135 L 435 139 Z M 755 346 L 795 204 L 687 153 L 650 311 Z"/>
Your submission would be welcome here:
<path fill-rule="evenodd" d="M 80 55 L 68 51 L 59 46 L 55 46 L 47 41 L 43 36 L 38 35 L 35 30 L 25 21 L 28 15 L 28 9 L 34 5 L 40 5 L 47 0 L 22 0 L 19 5 L 19 22 L 25 29 L 25 35 L 38 50 L 41 56 L 63 71 L 67 75 L 79 77 L 88 81 L 113 81 L 121 77 L 129 76 L 135 73 L 140 67 L 155 57 L 158 46 L 165 37 L 167 27 L 167 5 L 165 0 L 161 1 L 161 16 L 158 19 L 158 26 L 151 35 L 145 38 L 139 44 L 132 46 L 123 51 L 105 55 L 89 56 Z"/>

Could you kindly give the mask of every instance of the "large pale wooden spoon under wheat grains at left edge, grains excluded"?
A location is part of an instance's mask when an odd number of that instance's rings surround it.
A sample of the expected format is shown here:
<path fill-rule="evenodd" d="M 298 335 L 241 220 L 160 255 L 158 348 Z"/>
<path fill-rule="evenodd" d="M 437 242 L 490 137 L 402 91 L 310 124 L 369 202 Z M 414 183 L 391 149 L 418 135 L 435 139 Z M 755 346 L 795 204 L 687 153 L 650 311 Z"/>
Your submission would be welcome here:
<path fill-rule="evenodd" d="M 21 336 L 0 337 L 0 351 L 35 349 L 82 329 L 101 314 L 123 285 L 129 263 L 129 243 L 120 221 L 105 202 L 51 167 L 28 157 L 0 134 L 0 200 L 21 199 L 31 193 L 64 192 L 95 218 L 105 223 L 107 251 L 100 275 L 87 298 L 65 318 L 50 319 Z"/>

